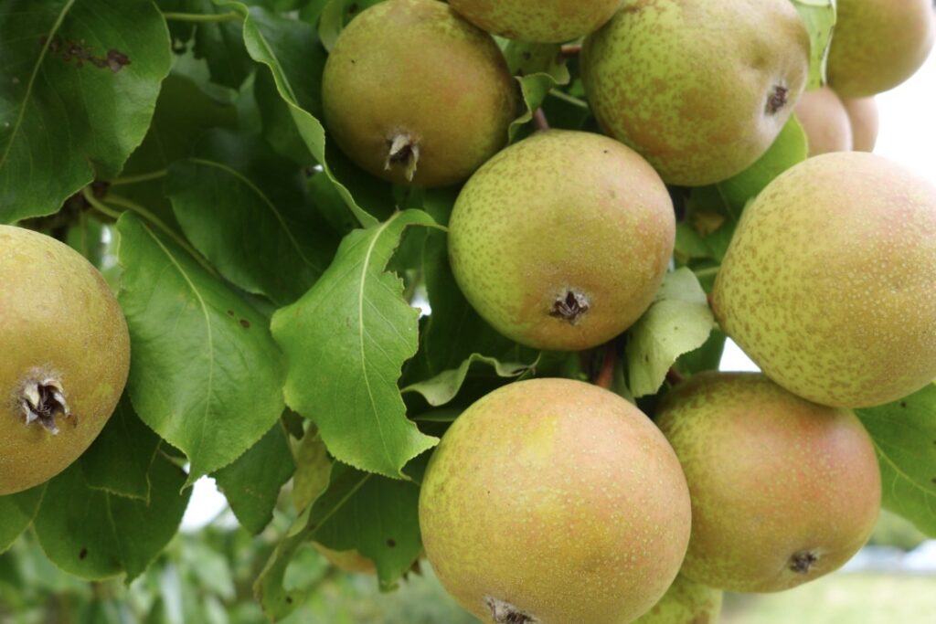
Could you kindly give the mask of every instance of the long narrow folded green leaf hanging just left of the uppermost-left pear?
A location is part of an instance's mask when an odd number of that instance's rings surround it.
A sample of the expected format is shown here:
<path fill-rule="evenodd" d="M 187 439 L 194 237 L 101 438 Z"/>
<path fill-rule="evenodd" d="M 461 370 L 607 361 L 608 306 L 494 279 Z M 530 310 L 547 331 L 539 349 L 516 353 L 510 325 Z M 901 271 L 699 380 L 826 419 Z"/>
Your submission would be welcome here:
<path fill-rule="evenodd" d="M 302 93 L 300 89 L 310 89 L 312 84 L 318 84 L 320 80 L 315 80 L 315 76 L 309 76 L 302 73 L 300 65 L 285 64 L 285 60 L 294 58 L 291 55 L 289 43 L 292 40 L 290 36 L 283 36 L 285 29 L 302 29 L 305 36 L 314 37 L 314 29 L 311 25 L 297 22 L 295 20 L 286 20 L 275 15 L 271 15 L 260 8 L 255 8 L 248 12 L 247 7 L 239 2 L 230 0 L 215 0 L 220 6 L 233 8 L 241 12 L 244 16 L 243 36 L 247 45 L 247 51 L 251 57 L 260 64 L 267 65 L 276 82 L 276 89 L 289 108 L 289 113 L 296 123 L 296 128 L 300 137 L 305 141 L 315 160 L 324 168 L 326 175 L 334 182 L 335 188 L 344 199 L 348 209 L 351 210 L 358 223 L 364 226 L 370 226 L 377 223 L 367 210 L 361 208 L 355 198 L 351 195 L 348 187 L 340 181 L 339 176 L 335 175 L 332 168 L 332 158 L 326 158 L 325 146 L 325 128 L 307 109 L 303 109 L 300 104 L 298 94 Z M 308 85 L 303 87 L 303 85 Z M 306 102 L 309 100 L 306 99 Z M 331 152 L 329 152 L 330 154 Z M 359 171 L 356 172 L 358 175 Z M 346 177 L 347 174 L 344 174 Z M 381 185 L 379 182 L 370 178 L 371 184 L 384 189 L 389 189 L 389 185 Z"/>

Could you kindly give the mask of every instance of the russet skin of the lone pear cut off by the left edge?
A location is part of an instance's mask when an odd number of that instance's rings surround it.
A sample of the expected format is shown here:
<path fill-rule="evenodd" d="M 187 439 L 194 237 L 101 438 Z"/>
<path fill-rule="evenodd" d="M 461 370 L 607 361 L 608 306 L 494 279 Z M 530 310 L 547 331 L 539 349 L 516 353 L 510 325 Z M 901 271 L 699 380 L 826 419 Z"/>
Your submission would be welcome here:
<path fill-rule="evenodd" d="M 37 486 L 75 461 L 124 390 L 130 337 L 100 273 L 56 239 L 0 225 L 0 496 Z M 58 434 L 26 424 L 26 384 L 55 380 L 71 415 Z"/>

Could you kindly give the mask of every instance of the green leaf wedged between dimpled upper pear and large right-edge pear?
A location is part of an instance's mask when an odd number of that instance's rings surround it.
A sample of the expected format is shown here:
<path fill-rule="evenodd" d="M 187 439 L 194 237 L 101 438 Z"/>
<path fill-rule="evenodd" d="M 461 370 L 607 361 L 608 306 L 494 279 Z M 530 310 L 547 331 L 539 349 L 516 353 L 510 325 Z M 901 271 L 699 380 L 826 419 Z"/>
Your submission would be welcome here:
<path fill-rule="evenodd" d="M 790 115 L 789 121 L 774 139 L 770 149 L 751 167 L 741 171 L 734 178 L 720 182 L 718 189 L 728 206 L 739 215 L 748 201 L 763 191 L 777 176 L 806 160 L 808 152 L 809 146 L 803 126 L 797 121 L 796 115 Z"/>

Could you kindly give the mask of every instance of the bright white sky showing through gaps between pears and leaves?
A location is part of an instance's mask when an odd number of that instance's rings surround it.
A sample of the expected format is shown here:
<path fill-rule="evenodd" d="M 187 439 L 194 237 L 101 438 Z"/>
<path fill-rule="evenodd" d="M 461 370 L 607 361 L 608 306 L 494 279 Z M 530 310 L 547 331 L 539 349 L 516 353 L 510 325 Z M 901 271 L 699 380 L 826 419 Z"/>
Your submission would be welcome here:
<path fill-rule="evenodd" d="M 878 95 L 881 134 L 874 152 L 913 169 L 936 184 L 936 53 L 914 77 Z M 728 341 L 722 370 L 758 370 L 738 346 Z M 193 531 L 227 508 L 227 501 L 207 477 L 195 484 L 182 530 Z"/>

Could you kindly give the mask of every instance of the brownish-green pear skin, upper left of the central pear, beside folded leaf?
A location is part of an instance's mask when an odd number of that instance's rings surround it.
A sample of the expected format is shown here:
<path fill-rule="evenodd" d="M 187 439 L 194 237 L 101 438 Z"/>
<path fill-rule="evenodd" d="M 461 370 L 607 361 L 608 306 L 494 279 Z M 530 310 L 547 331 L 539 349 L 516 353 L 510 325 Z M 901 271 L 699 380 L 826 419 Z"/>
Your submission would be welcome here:
<path fill-rule="evenodd" d="M 507 142 L 519 88 L 494 40 L 435 0 L 388 0 L 363 11 L 335 42 L 322 79 L 331 138 L 359 167 L 386 169 L 393 138 L 417 142 L 417 186 L 466 180 Z"/>

